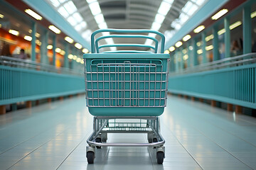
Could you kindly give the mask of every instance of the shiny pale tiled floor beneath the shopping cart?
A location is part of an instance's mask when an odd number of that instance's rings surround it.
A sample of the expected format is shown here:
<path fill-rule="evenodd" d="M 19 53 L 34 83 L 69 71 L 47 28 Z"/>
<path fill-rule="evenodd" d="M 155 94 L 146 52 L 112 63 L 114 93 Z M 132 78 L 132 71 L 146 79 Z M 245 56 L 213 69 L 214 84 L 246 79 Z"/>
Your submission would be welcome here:
<path fill-rule="evenodd" d="M 85 98 L 0 115 L 0 169 L 256 169 L 256 119 L 169 96 L 161 115 L 164 164 L 155 149 L 107 147 L 87 164 L 92 116 Z M 110 134 L 108 141 L 146 142 L 146 135 Z"/>

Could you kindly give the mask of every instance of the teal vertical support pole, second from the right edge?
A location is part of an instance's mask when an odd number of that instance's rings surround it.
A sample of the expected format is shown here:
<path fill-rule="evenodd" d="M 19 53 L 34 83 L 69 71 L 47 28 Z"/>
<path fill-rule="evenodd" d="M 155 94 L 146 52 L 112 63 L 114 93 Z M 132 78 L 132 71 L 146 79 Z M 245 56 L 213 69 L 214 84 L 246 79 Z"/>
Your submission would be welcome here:
<path fill-rule="evenodd" d="M 230 57 L 230 20 L 229 18 L 224 19 L 224 28 L 225 28 L 225 58 Z"/>

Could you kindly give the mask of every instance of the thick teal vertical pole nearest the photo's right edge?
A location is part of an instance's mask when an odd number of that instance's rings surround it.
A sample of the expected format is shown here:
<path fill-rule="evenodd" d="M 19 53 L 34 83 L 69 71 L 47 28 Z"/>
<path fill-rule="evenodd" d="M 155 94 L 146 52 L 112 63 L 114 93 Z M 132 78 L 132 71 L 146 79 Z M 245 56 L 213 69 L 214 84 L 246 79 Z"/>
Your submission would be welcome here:
<path fill-rule="evenodd" d="M 242 52 L 247 54 L 252 52 L 252 20 L 250 17 L 251 7 L 250 4 L 242 9 Z"/>

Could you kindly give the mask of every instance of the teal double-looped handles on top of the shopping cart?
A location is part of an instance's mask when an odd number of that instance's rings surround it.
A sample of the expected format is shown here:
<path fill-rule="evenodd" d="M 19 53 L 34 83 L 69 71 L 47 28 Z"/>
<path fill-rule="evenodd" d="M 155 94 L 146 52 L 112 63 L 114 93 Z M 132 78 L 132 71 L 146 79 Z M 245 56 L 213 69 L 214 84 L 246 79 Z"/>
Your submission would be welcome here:
<path fill-rule="evenodd" d="M 97 46 L 97 42 L 99 40 L 102 40 L 104 38 L 114 38 L 117 36 L 122 36 L 122 38 L 149 38 L 151 40 L 154 40 L 156 42 L 156 38 L 151 38 L 149 36 L 144 36 L 144 35 L 109 35 L 109 36 L 102 36 L 101 38 L 97 38 L 97 40 L 95 41 L 95 35 L 97 33 L 104 33 L 104 32 L 112 32 L 112 33 L 154 33 L 156 35 L 159 35 L 161 37 L 161 49 L 160 52 L 164 53 L 164 42 L 165 42 L 165 38 L 164 38 L 164 34 L 159 33 L 156 30 L 126 30 L 126 29 L 100 29 L 100 30 L 95 30 L 95 32 L 92 33 L 91 35 L 91 48 L 92 48 L 92 53 L 95 53 L 95 45 Z M 156 45 L 158 45 L 158 43 L 156 43 Z M 155 46 L 156 46 L 155 45 Z M 114 45 L 113 45 L 114 46 Z M 98 52 L 98 46 L 97 48 L 97 52 Z M 157 46 L 155 47 L 155 52 L 157 50 Z"/>

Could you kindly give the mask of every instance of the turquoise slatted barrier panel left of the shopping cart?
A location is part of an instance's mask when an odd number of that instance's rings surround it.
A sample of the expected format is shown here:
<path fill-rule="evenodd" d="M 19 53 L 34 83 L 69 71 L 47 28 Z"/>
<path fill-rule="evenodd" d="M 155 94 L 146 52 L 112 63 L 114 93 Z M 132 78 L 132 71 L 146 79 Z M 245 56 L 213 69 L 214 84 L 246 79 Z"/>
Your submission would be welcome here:
<path fill-rule="evenodd" d="M 7 66 L 0 66 L 0 76 L 0 105 L 85 91 L 85 82 L 82 76 Z"/>

